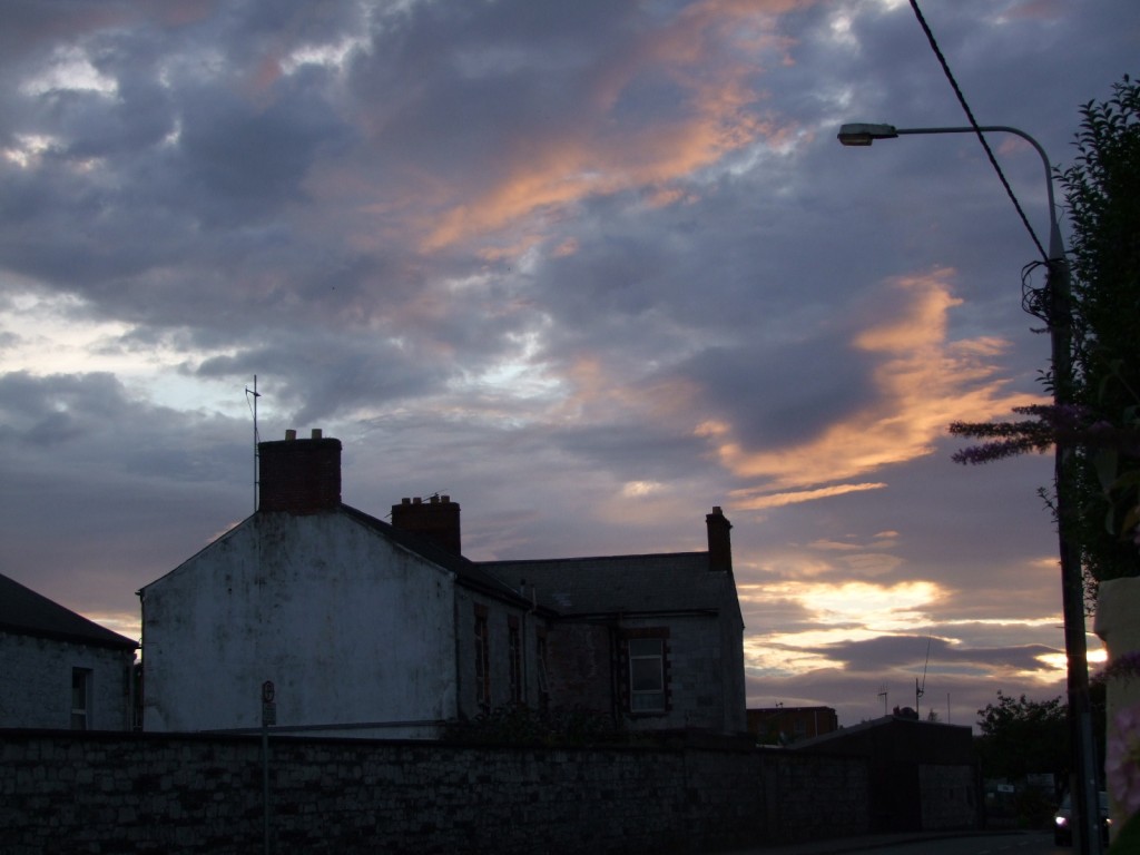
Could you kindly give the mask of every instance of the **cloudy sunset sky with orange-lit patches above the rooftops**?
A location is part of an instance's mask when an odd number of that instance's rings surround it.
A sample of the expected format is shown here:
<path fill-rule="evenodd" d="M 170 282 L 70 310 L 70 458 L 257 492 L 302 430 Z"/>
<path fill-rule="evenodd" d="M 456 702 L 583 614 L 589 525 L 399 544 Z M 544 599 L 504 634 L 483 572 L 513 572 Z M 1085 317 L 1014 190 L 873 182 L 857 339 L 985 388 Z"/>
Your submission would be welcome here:
<path fill-rule="evenodd" d="M 920 6 L 1052 165 L 1140 73 L 1134 0 Z M 722 506 L 750 707 L 1062 694 L 1052 459 L 946 431 L 1042 400 L 1037 249 L 975 136 L 836 139 L 968 124 L 905 0 L 3 17 L 0 572 L 137 638 L 253 511 L 255 382 L 262 440 L 339 438 L 375 516 L 451 496 L 474 560 L 703 549 Z"/>

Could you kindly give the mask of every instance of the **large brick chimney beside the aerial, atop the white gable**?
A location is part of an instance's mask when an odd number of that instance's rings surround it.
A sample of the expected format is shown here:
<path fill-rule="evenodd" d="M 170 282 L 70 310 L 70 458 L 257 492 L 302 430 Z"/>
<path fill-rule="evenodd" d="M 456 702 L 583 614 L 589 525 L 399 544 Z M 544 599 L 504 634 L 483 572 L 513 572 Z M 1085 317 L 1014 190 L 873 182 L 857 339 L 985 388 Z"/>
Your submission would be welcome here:
<path fill-rule="evenodd" d="M 315 514 L 341 505 L 341 441 L 285 431 L 284 440 L 258 443 L 259 511 Z"/>

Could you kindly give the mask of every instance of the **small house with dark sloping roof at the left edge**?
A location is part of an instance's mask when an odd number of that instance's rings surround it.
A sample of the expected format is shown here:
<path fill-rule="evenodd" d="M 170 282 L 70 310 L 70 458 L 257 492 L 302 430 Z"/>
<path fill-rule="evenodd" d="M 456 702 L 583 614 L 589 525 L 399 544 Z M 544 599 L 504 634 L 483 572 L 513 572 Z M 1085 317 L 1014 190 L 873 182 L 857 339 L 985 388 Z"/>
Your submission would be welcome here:
<path fill-rule="evenodd" d="M 130 730 L 138 646 L 0 576 L 0 727 Z"/>

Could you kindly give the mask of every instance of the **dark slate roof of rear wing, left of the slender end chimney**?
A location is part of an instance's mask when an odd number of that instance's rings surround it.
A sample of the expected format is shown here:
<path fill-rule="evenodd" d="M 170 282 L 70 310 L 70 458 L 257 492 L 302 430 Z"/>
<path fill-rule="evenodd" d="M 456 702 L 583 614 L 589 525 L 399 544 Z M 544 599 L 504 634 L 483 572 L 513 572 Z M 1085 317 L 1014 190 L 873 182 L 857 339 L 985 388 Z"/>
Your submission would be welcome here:
<path fill-rule="evenodd" d="M 718 611 L 731 577 L 709 570 L 707 552 L 484 561 L 479 567 L 534 589 L 539 604 L 564 616 Z"/>

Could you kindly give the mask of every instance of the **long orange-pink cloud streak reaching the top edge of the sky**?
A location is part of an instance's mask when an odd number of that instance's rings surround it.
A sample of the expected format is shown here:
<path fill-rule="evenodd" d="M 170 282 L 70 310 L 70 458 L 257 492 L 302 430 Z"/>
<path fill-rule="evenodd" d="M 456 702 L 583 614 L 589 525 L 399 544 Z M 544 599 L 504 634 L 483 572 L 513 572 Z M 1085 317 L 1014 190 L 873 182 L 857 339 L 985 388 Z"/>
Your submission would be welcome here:
<path fill-rule="evenodd" d="M 779 139 L 785 131 L 750 109 L 757 99 L 751 75 L 762 48 L 783 44 L 774 16 L 804 5 L 709 0 L 627 46 L 597 74 L 576 135 L 530 137 L 508 147 L 504 178 L 433 214 L 422 249 L 484 237 L 591 195 L 658 189 L 760 137 Z M 649 125 L 620 122 L 614 109 L 622 95 L 648 78 L 683 92 L 681 116 Z M 654 196 L 657 203 L 668 198 Z"/>

